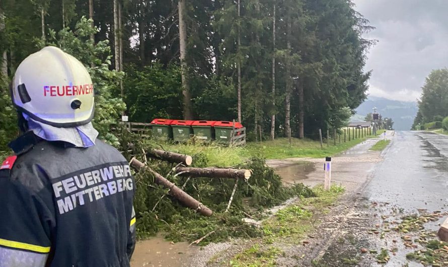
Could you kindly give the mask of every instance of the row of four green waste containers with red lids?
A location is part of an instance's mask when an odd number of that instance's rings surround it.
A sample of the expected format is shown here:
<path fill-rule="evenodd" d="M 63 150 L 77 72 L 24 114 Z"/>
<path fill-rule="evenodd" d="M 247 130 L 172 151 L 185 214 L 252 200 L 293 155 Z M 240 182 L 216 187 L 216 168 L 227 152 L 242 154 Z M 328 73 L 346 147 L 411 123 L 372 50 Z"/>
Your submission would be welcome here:
<path fill-rule="evenodd" d="M 241 123 L 233 121 L 177 119 L 154 119 L 151 126 L 155 137 L 176 142 L 186 142 L 194 136 L 203 141 L 231 143 L 233 129 L 243 128 Z"/>

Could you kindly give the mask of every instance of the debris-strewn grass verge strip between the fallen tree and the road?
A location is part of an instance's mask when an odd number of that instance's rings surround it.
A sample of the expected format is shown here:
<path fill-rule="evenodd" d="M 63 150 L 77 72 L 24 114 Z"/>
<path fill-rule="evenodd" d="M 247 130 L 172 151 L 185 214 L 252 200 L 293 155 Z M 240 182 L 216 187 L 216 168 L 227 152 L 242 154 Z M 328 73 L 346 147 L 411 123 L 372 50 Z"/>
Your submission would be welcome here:
<path fill-rule="evenodd" d="M 307 242 L 304 238 L 314 229 L 318 217 L 328 211 L 344 188 L 334 185 L 326 191 L 322 186 L 316 186 L 313 191 L 316 197 L 302 198 L 267 219 L 262 225 L 262 238 L 254 240 L 254 245 L 237 253 L 228 262 L 222 262 L 222 265 L 275 266 L 276 259 L 283 254 L 278 244 L 284 246 Z"/>

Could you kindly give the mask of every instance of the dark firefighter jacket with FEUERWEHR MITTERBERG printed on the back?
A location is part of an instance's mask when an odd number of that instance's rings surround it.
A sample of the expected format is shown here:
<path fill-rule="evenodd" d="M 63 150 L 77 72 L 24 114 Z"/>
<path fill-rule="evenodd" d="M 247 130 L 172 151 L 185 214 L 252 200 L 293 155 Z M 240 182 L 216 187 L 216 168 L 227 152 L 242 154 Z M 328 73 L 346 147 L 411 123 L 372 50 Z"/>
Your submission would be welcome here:
<path fill-rule="evenodd" d="M 0 167 L 0 267 L 128 267 L 135 184 L 113 147 L 27 132 Z"/>

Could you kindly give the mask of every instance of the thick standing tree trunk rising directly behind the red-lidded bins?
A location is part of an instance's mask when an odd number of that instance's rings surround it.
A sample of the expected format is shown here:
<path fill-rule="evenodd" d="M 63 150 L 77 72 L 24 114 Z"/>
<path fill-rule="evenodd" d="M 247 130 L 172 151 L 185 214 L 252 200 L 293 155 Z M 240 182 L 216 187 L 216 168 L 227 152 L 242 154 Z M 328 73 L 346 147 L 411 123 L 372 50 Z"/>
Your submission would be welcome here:
<path fill-rule="evenodd" d="M 190 87 L 187 79 L 187 62 L 185 56 L 187 54 L 187 25 L 185 23 L 185 14 L 187 8 L 186 0 L 179 0 L 179 47 L 180 61 L 182 66 L 182 94 L 184 95 L 184 119 L 193 119 Z"/>

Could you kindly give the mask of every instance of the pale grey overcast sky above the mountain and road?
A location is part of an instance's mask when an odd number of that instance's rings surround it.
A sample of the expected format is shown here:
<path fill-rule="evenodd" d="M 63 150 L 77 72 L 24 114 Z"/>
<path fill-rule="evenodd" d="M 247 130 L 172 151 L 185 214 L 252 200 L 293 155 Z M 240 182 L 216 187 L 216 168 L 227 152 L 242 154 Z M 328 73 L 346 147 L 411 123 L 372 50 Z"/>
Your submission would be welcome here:
<path fill-rule="evenodd" d="M 425 77 L 448 65 L 448 0 L 354 0 L 375 30 L 365 70 L 369 95 L 401 101 L 420 97 Z"/>

